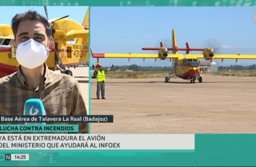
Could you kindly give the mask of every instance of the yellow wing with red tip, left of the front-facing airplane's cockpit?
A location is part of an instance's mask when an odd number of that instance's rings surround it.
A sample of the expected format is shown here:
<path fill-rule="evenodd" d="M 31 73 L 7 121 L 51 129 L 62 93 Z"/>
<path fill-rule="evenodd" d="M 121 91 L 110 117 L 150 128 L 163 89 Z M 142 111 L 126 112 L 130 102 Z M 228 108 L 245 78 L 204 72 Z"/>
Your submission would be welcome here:
<path fill-rule="evenodd" d="M 158 54 L 150 53 L 93 53 L 93 58 L 160 58 Z M 169 54 L 164 58 L 184 59 L 183 54 Z"/>

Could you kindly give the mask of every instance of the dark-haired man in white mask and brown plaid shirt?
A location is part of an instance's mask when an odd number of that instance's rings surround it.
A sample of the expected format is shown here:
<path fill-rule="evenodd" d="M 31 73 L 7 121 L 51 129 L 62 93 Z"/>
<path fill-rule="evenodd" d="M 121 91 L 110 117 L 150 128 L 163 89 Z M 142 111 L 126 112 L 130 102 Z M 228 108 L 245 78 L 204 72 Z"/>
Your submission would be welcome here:
<path fill-rule="evenodd" d="M 28 99 L 40 99 L 47 115 L 88 115 L 78 82 L 48 69 L 45 61 L 54 46 L 48 20 L 29 10 L 11 20 L 19 70 L 0 78 L 0 105 L 8 115 L 23 115 Z M 88 123 L 78 123 L 89 133 Z"/>

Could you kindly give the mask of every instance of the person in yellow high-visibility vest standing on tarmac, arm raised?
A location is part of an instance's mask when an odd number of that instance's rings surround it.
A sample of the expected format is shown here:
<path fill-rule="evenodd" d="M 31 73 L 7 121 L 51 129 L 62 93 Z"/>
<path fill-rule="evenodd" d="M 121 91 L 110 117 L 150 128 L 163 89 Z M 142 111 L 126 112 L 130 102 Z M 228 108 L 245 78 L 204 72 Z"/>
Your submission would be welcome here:
<path fill-rule="evenodd" d="M 108 68 L 106 71 L 104 71 L 103 67 L 100 65 L 99 70 L 96 71 L 96 74 L 97 74 L 97 92 L 96 92 L 97 99 L 99 99 L 100 91 L 101 91 L 101 99 L 106 99 L 105 98 L 105 80 L 106 80 L 105 73 L 107 73 L 113 67 L 114 67 L 114 65 L 112 65 L 110 68 Z"/>

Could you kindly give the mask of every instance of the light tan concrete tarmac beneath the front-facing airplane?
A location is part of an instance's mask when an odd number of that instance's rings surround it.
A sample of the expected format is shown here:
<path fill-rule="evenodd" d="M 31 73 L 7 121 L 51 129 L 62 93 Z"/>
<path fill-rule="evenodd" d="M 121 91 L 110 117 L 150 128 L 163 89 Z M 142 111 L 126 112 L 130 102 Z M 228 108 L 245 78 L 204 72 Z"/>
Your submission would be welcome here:
<path fill-rule="evenodd" d="M 91 133 L 256 133 L 256 77 L 202 79 L 107 78 L 106 100 L 96 99 L 91 79 L 91 115 L 114 115 L 114 123 L 91 123 Z"/>

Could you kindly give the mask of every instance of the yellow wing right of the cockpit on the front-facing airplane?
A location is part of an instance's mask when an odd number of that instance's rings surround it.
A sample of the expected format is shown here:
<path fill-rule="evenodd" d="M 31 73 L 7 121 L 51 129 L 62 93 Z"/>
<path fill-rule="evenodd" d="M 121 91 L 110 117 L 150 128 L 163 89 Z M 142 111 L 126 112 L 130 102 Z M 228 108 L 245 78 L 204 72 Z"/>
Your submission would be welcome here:
<path fill-rule="evenodd" d="M 186 58 L 205 58 L 202 54 L 186 54 Z M 211 59 L 256 59 L 256 55 L 214 55 Z"/>

